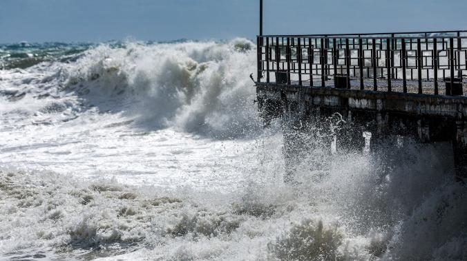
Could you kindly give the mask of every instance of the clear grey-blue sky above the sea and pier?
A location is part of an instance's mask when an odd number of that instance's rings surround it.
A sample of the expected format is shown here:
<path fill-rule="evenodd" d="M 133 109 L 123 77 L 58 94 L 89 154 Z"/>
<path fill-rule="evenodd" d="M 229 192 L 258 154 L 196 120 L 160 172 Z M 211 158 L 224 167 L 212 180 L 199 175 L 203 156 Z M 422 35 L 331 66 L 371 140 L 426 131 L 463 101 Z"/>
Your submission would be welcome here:
<path fill-rule="evenodd" d="M 259 0 L 0 0 L 0 43 L 254 39 Z M 467 0 L 264 0 L 264 34 L 467 30 Z"/>

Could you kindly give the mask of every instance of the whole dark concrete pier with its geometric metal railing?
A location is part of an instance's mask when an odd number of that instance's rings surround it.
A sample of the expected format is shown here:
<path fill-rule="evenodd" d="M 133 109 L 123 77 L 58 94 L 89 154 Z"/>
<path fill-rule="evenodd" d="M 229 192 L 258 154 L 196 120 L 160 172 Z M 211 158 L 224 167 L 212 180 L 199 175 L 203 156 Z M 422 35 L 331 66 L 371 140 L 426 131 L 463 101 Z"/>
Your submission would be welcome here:
<path fill-rule="evenodd" d="M 379 149 L 383 140 L 451 143 L 467 176 L 467 31 L 260 35 L 255 81 L 261 116 L 281 118 L 293 176 L 316 128 L 338 121 L 337 152 Z M 363 133 L 371 133 L 365 144 Z M 329 147 L 329 146 L 328 146 Z M 287 179 L 287 177 L 286 177 Z"/>

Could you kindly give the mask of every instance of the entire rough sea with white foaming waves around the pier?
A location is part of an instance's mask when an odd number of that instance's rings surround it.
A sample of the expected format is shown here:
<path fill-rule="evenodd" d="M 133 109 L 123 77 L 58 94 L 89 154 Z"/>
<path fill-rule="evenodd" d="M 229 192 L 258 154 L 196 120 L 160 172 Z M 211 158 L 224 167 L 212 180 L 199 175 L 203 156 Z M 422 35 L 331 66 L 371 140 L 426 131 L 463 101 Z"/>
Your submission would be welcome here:
<path fill-rule="evenodd" d="M 285 183 L 255 71 L 249 39 L 0 44 L 0 260 L 467 260 L 449 145 Z"/>

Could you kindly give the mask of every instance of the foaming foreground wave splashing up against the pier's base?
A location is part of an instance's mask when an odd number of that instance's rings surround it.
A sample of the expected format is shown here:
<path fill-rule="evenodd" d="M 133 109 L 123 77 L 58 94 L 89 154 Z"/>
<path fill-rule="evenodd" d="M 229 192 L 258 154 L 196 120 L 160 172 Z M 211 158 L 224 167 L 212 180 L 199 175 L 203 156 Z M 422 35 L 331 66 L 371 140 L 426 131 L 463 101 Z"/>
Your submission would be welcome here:
<path fill-rule="evenodd" d="M 390 156 L 410 162 L 395 166 L 328 155 L 323 169 L 298 168 L 307 181 L 296 186 L 271 169 L 229 193 L 3 167 L 0 249 L 8 257 L 55 249 L 62 258 L 462 260 L 466 187 L 427 164 L 434 150 L 417 151 Z"/>

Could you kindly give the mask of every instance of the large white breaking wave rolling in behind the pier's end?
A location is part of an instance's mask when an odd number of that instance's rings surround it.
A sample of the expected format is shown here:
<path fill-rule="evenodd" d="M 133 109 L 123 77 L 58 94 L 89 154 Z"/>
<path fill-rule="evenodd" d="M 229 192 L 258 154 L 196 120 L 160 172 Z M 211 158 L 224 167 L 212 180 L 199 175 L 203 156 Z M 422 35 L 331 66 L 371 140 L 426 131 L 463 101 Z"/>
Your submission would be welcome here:
<path fill-rule="evenodd" d="M 125 112 L 137 127 L 245 136 L 260 128 L 249 79 L 254 59 L 254 44 L 246 39 L 103 44 L 61 61 L 37 60 L 28 69 L 33 80 L 7 84 L 35 98 L 73 94 L 81 110 Z"/>

